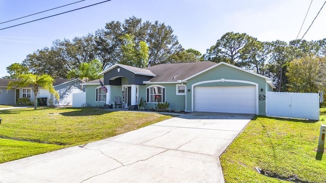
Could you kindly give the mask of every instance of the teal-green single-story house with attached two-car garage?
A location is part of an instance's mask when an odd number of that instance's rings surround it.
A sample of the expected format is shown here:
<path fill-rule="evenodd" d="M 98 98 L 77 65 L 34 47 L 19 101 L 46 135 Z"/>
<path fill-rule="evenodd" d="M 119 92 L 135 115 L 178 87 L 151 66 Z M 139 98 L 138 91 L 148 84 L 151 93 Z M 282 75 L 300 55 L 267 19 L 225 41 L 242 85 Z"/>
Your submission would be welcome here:
<path fill-rule="evenodd" d="M 275 88 L 270 78 L 223 62 L 160 64 L 146 69 L 116 64 L 100 74 L 107 93 L 99 80 L 82 84 L 88 106 L 111 104 L 119 97 L 129 109 L 142 99 L 147 109 L 168 102 L 170 110 L 266 115 L 264 96 Z"/>

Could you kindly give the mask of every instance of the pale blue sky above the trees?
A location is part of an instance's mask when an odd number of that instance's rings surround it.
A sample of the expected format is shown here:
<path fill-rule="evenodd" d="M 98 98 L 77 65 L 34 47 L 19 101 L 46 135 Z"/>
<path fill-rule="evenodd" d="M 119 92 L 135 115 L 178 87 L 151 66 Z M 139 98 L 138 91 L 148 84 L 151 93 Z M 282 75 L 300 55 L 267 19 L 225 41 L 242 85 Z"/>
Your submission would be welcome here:
<path fill-rule="evenodd" d="M 78 0 L 0 0 L 0 22 Z M 45 12 L 17 21 L 0 24 L 0 28 L 88 6 L 104 0 L 86 0 L 68 7 Z M 50 47 L 55 39 L 72 39 L 104 28 L 106 22 L 124 21 L 131 16 L 143 21 L 157 20 L 170 25 L 185 48 L 205 53 L 227 32 L 247 33 L 259 41 L 294 40 L 306 15 L 310 0 L 112 0 L 90 8 L 0 31 L 0 77 L 7 75 L 6 67 L 21 63 L 26 55 Z M 313 1 L 303 36 L 321 8 L 324 0 Z M 326 7 L 324 7 L 306 40 L 326 38 Z"/>

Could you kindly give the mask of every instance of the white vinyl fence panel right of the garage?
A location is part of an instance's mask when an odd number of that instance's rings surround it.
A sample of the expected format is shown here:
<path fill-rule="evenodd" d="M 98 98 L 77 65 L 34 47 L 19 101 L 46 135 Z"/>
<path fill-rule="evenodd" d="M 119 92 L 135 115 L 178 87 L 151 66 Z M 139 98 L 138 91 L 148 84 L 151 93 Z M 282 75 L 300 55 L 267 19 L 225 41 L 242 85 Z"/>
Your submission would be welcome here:
<path fill-rule="evenodd" d="M 266 115 L 319 120 L 319 94 L 267 92 Z"/>

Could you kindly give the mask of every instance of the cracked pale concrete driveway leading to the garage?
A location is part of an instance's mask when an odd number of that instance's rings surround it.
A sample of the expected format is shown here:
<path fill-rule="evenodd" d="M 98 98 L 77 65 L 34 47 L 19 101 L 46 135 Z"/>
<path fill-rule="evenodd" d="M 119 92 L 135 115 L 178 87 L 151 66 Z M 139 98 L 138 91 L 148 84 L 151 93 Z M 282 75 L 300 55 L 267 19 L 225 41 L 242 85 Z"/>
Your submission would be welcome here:
<path fill-rule="evenodd" d="M 224 182 L 219 156 L 254 115 L 193 112 L 0 164 L 0 182 Z"/>

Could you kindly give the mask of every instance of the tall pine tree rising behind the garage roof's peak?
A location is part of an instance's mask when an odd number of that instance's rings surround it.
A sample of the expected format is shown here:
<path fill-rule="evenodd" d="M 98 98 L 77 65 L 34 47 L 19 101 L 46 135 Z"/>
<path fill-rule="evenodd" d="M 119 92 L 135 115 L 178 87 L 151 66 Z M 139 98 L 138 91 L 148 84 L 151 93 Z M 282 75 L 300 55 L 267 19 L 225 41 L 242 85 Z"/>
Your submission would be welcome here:
<path fill-rule="evenodd" d="M 226 33 L 219 39 L 215 45 L 207 49 L 205 58 L 212 62 L 226 62 L 235 66 L 243 65 L 241 54 L 244 54 L 244 47 L 254 39 L 246 33 Z"/>

